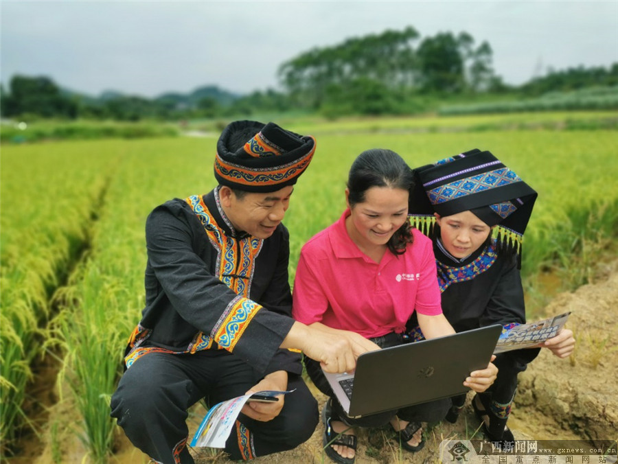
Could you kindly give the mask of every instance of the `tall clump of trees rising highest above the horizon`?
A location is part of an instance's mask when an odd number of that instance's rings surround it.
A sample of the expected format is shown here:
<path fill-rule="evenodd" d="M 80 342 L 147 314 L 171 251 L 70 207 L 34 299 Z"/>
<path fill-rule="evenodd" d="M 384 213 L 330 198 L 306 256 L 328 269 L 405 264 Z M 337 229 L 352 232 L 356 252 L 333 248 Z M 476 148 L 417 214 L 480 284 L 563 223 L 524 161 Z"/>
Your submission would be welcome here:
<path fill-rule="evenodd" d="M 398 113 L 420 94 L 503 89 L 492 48 L 466 32 L 421 40 L 414 27 L 350 38 L 284 62 L 279 78 L 297 106 L 352 113 Z"/>

